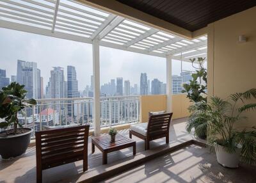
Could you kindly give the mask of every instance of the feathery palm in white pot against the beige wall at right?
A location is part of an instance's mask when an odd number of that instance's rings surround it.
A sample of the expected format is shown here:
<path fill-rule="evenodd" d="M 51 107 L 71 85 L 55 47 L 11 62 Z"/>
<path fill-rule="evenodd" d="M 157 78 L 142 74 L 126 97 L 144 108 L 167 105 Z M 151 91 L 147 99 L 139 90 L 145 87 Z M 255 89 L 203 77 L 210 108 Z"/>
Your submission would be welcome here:
<path fill-rule="evenodd" d="M 244 113 L 256 109 L 256 88 L 234 93 L 227 100 L 211 97 L 209 102 L 197 102 L 198 118 L 207 119 L 207 143 L 216 150 L 217 161 L 225 167 L 236 168 L 239 161 L 256 163 L 256 127 L 244 127 Z M 201 110 L 201 112 L 199 112 Z"/>

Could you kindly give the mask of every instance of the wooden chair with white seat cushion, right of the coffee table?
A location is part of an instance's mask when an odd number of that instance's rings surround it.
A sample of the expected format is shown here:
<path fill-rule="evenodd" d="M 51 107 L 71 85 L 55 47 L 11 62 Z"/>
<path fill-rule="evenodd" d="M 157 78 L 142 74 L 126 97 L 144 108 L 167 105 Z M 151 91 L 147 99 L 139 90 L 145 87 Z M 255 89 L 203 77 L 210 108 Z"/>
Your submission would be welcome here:
<path fill-rule="evenodd" d="M 166 138 L 169 143 L 169 129 L 172 113 L 150 115 L 148 123 L 131 125 L 129 136 L 132 135 L 145 140 L 145 150 L 149 149 L 149 142 L 154 139 Z"/>

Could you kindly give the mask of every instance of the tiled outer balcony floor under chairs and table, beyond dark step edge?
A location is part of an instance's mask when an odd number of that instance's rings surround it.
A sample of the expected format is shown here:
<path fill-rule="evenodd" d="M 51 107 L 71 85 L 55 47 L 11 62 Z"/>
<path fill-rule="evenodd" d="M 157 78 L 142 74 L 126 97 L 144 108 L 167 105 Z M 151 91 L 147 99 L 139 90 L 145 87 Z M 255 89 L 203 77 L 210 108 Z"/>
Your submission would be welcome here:
<path fill-rule="evenodd" d="M 193 138 L 185 131 L 185 119 L 173 120 L 170 127 L 170 145 L 174 146 L 184 141 Z M 128 129 L 119 131 L 121 134 L 128 136 Z M 144 141 L 132 137 L 136 140 L 137 155 L 144 153 Z M 98 170 L 102 167 L 102 153 L 95 147 L 95 153 L 91 151 L 91 139 L 88 145 L 88 171 Z M 157 139 L 150 142 L 150 149 L 157 148 L 165 144 L 165 139 Z M 117 152 L 108 154 L 108 164 L 115 164 L 116 161 L 126 161 L 132 159 L 132 148 L 125 148 Z M 83 180 L 82 161 L 76 163 L 65 164 L 56 168 L 51 168 L 43 171 L 44 182 L 79 182 Z M 35 182 L 36 180 L 36 158 L 35 147 L 29 147 L 26 154 L 12 161 L 3 161 L 0 159 L 0 182 Z"/>

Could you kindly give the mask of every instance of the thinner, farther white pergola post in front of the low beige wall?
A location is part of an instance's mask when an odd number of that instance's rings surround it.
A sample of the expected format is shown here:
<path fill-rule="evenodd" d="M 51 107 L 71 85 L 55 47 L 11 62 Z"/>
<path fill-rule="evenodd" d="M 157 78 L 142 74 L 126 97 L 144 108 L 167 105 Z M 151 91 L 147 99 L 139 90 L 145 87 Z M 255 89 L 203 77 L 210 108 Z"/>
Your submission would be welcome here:
<path fill-rule="evenodd" d="M 172 112 L 172 55 L 166 56 L 166 112 Z"/>

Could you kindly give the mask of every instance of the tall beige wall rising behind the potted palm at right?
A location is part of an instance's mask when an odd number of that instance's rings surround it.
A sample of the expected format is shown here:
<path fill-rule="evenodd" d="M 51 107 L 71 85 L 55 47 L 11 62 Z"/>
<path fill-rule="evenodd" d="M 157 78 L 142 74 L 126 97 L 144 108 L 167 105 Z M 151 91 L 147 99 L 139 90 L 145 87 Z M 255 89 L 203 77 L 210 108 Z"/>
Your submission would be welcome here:
<path fill-rule="evenodd" d="M 256 88 L 256 7 L 208 28 L 209 94 L 225 98 Z M 239 35 L 247 36 L 248 42 L 239 43 Z M 256 125 L 256 112 L 249 117 L 246 124 Z"/>

